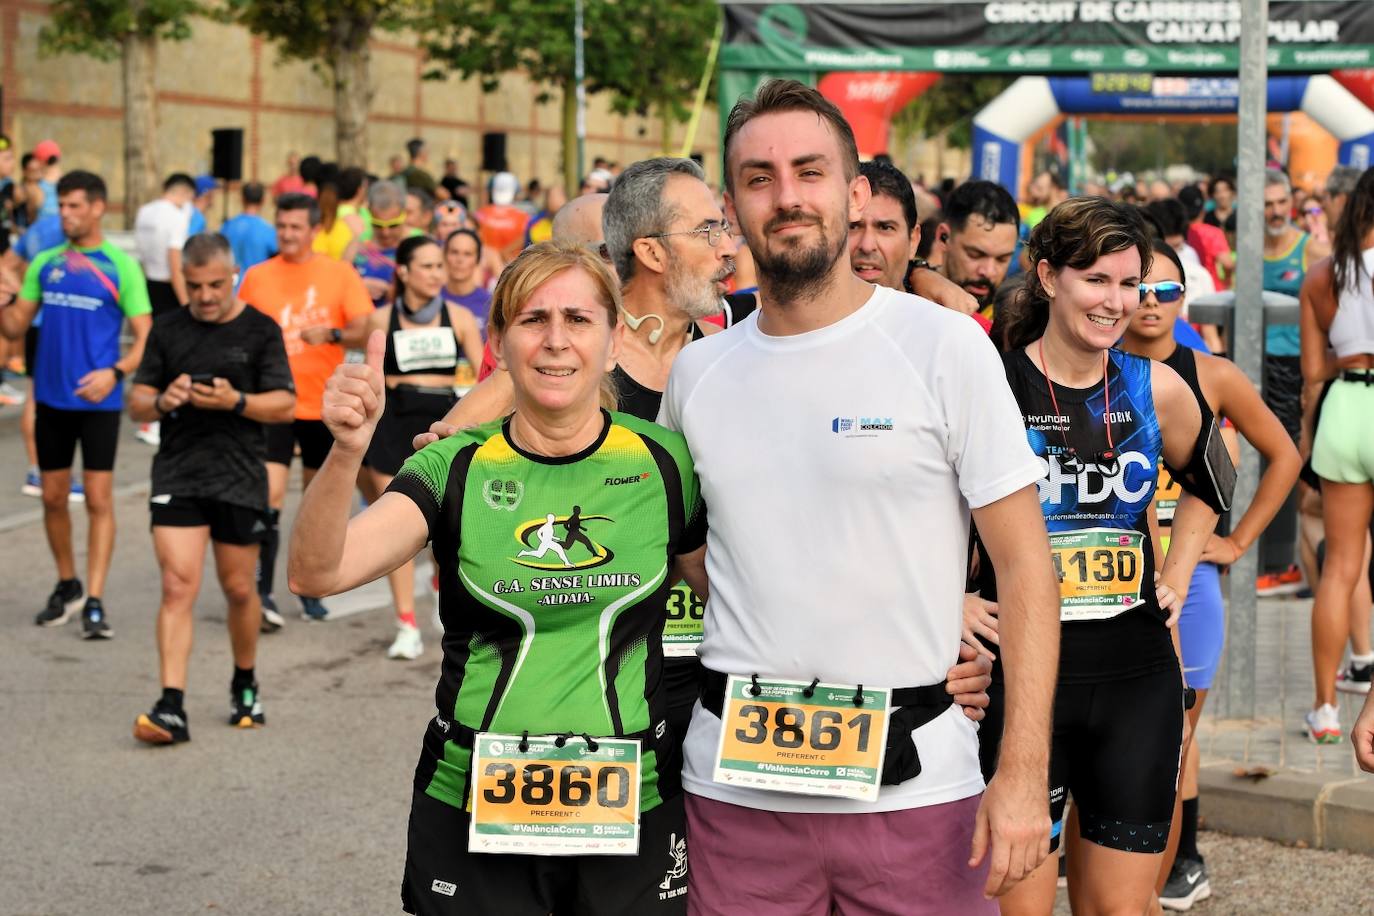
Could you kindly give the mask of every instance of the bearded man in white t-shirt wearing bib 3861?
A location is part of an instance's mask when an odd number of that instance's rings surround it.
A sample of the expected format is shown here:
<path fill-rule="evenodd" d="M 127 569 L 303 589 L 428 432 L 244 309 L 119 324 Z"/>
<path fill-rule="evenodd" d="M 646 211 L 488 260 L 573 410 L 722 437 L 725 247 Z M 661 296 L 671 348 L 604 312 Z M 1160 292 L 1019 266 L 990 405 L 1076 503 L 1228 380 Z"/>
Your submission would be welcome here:
<path fill-rule="evenodd" d="M 727 213 L 761 309 L 684 347 L 664 396 L 710 525 L 705 569 L 687 570 L 709 578 L 683 769 L 691 913 L 996 913 L 988 898 L 1048 851 L 1041 470 L 978 325 L 851 271 L 857 166 L 813 89 L 769 81 L 735 106 Z M 976 726 L 943 689 L 970 508 L 1011 586 L 1011 744 L 985 792 Z"/>

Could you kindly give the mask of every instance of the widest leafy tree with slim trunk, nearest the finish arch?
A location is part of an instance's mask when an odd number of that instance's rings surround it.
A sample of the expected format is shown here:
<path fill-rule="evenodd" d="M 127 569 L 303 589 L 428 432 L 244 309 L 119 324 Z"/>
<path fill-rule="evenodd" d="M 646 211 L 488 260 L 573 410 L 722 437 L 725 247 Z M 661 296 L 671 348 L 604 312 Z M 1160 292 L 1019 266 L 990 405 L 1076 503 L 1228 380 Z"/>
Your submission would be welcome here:
<path fill-rule="evenodd" d="M 587 92 L 613 93 L 611 110 L 686 119 L 720 11 L 713 0 L 584 0 Z M 525 71 L 552 85 L 563 103 L 563 179 L 574 192 L 577 93 L 573 0 L 434 0 L 438 27 L 423 32 L 436 67 L 478 77 L 495 92 L 500 77 Z M 547 102 L 543 93 L 539 102 Z"/>

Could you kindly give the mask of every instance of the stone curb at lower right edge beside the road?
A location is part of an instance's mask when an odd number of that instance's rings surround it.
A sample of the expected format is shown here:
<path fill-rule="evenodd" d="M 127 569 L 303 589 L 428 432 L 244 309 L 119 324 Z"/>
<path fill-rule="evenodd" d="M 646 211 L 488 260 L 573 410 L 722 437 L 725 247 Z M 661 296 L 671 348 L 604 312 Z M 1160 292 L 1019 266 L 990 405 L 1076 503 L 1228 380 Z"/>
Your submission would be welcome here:
<path fill-rule="evenodd" d="M 1374 856 L 1374 779 L 1282 770 L 1254 779 L 1237 766 L 1198 772 L 1208 828 Z"/>

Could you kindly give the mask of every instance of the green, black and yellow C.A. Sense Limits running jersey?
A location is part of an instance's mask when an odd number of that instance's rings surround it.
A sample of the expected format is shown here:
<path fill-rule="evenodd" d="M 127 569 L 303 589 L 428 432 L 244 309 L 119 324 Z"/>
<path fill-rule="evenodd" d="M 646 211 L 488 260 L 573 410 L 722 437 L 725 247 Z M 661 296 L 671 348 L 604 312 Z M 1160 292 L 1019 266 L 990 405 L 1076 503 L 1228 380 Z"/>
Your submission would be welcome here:
<path fill-rule="evenodd" d="M 680 434 L 602 416 L 600 437 L 566 457 L 522 450 L 508 419 L 463 430 L 387 488 L 429 525 L 444 622 L 415 786 L 455 808 L 469 798 L 471 731 L 639 737 L 642 810 L 677 795 L 664 604 L 673 558 L 705 544 L 706 514 Z"/>

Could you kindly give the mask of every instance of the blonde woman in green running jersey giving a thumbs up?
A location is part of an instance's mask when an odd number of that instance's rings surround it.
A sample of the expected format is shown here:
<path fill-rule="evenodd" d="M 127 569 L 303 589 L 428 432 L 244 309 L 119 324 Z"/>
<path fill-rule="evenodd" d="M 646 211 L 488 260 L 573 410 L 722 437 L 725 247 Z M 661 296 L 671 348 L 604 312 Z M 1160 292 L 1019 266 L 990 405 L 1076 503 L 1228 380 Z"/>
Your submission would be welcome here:
<path fill-rule="evenodd" d="M 356 588 L 427 542 L 440 570 L 407 912 L 686 912 L 662 628 L 680 573 L 705 588 L 705 511 L 682 435 L 602 408 L 618 299 L 589 251 L 526 249 L 492 302 L 514 413 L 415 453 L 352 519 L 383 335 L 326 389 L 335 442 L 291 533 L 293 589 Z"/>

